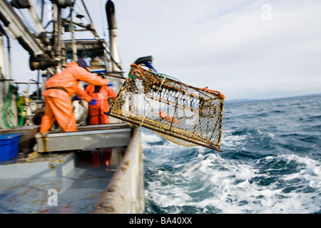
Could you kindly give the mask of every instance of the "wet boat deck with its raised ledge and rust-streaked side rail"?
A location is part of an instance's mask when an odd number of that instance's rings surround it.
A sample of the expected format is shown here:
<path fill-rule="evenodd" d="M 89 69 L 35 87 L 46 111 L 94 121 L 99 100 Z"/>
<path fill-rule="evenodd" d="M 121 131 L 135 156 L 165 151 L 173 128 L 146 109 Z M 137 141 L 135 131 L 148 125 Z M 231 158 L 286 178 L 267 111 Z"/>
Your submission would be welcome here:
<path fill-rule="evenodd" d="M 41 150 L 0 162 L 0 213 L 143 212 L 138 128 L 121 123 L 95 127 L 45 137 L 37 133 Z"/>

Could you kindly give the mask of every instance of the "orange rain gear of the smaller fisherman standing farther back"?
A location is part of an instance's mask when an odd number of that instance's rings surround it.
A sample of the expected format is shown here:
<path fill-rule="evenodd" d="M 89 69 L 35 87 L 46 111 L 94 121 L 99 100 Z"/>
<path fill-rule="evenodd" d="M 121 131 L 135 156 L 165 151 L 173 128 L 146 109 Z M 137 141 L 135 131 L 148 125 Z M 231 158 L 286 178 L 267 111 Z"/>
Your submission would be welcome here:
<path fill-rule="evenodd" d="M 98 100 L 97 105 L 89 105 L 89 123 L 91 125 L 109 123 L 108 116 L 104 112 L 109 110 L 108 98 L 115 99 L 117 94 L 108 86 L 101 86 L 99 93 L 94 93 L 94 85 L 87 86 L 85 90 L 91 97 Z"/>

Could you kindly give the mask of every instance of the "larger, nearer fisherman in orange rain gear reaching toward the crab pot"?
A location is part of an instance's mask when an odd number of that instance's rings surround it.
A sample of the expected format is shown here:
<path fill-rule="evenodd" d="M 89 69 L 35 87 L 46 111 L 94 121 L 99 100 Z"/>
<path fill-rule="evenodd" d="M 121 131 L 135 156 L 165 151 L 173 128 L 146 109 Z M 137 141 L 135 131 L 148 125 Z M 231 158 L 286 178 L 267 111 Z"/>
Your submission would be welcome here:
<path fill-rule="evenodd" d="M 65 132 L 76 131 L 76 119 L 73 113 L 73 105 L 70 96 L 75 94 L 94 105 L 97 100 L 91 98 L 82 90 L 78 82 L 84 81 L 97 86 L 106 86 L 109 81 L 86 71 L 86 66 L 81 63 L 67 63 L 66 69 L 61 73 L 49 78 L 46 81 L 46 90 L 44 92 L 45 114 L 41 120 L 40 133 L 48 132 L 51 125 L 57 120 L 61 129 Z"/>

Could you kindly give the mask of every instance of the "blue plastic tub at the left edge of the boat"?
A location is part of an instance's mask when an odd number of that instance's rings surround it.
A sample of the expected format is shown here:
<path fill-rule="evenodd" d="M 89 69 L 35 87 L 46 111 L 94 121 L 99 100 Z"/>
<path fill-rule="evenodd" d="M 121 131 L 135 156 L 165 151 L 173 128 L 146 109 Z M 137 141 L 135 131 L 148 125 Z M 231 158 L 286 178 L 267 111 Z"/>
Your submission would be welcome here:
<path fill-rule="evenodd" d="M 18 155 L 19 140 L 22 133 L 0 135 L 0 161 L 10 160 Z"/>

